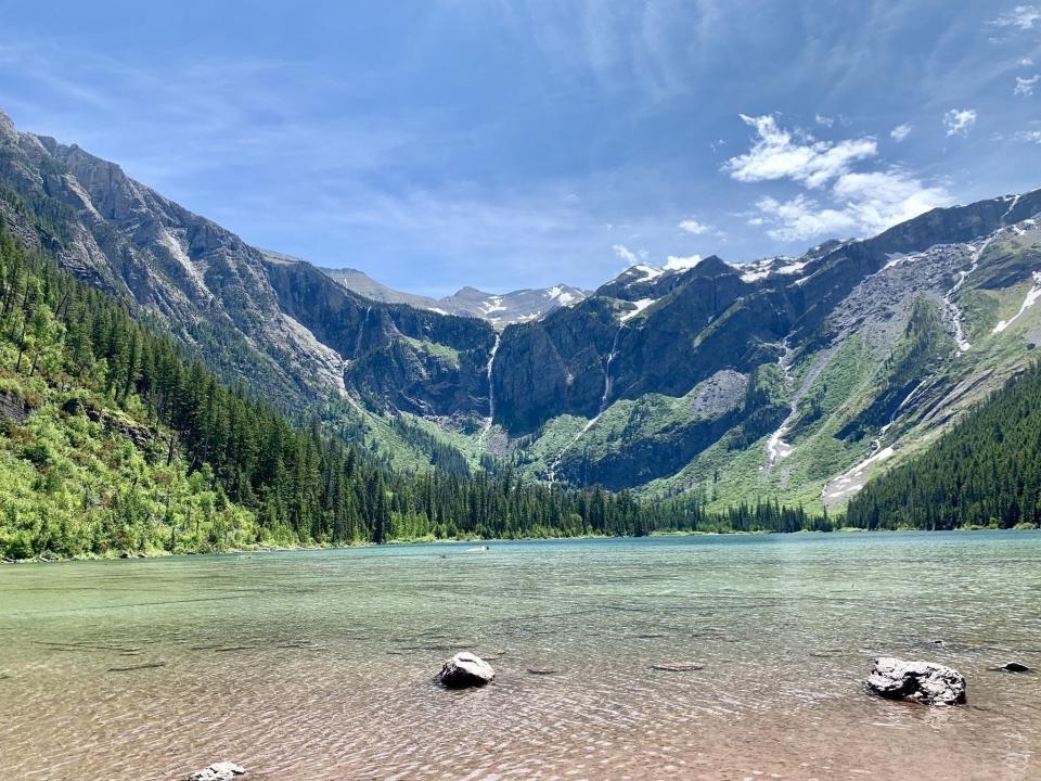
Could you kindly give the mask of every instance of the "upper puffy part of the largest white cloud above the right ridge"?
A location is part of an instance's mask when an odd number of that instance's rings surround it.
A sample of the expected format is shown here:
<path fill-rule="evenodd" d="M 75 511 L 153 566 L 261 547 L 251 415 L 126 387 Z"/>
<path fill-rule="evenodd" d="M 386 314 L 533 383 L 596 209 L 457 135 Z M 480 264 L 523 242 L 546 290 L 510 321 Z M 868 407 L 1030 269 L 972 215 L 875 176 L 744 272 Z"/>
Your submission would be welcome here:
<path fill-rule="evenodd" d="M 831 143 L 812 136 L 798 140 L 777 127 L 770 116 L 741 118 L 756 128 L 759 140 L 747 154 L 731 157 L 722 170 L 737 181 L 756 182 L 773 179 L 794 179 L 809 188 L 819 188 L 849 170 L 858 159 L 874 156 L 877 144 L 872 138 L 850 139 Z"/>

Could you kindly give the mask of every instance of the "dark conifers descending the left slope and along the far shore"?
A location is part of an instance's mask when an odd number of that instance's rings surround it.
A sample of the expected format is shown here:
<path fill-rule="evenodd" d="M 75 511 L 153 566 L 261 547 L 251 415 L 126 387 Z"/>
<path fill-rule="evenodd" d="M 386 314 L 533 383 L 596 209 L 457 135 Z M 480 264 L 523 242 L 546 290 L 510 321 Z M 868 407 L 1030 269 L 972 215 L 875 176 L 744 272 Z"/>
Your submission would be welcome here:
<path fill-rule="evenodd" d="M 239 529 L 248 529 L 250 542 L 345 545 L 812 526 L 801 509 L 769 502 L 719 515 L 693 499 L 650 503 L 601 488 L 564 490 L 525 482 L 509 469 L 471 475 L 452 453 L 444 459 L 446 469 L 393 472 L 318 419 L 291 419 L 248 388 L 222 384 L 184 346 L 145 320 L 61 270 L 42 251 L 27 251 L 0 226 L 0 334 L 10 355 L 3 372 L 43 383 L 62 399 L 87 392 L 142 419 L 150 431 L 145 450 L 151 462 L 183 462 L 192 485 L 213 492 L 218 509 L 247 513 L 252 522 Z M 78 412 L 77 405 L 66 402 L 56 420 L 67 423 Z M 422 435 L 404 424 L 398 431 Z M 75 554 L 87 545 L 87 552 L 104 553 L 114 547 L 140 548 L 136 540 L 145 538 L 182 549 L 191 533 L 184 521 L 123 501 L 119 486 L 115 488 L 107 494 L 114 498 L 101 508 L 110 522 L 87 543 L 80 539 L 77 548 L 69 541 L 76 536 L 75 518 L 63 518 L 48 526 L 46 550 Z M 227 539 L 217 533 L 206 537 L 215 550 Z M 242 535 L 234 539 L 242 541 Z M 20 545 L 23 553 L 44 552 L 39 539 Z"/>

